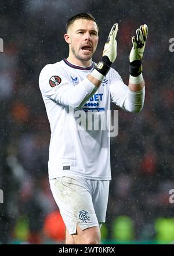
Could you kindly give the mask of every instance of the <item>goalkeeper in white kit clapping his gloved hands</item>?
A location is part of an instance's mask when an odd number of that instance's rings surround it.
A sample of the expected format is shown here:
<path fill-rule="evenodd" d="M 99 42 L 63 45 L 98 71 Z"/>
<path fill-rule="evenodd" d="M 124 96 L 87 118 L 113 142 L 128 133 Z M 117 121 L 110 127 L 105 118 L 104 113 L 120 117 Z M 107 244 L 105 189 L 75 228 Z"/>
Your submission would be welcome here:
<path fill-rule="evenodd" d="M 111 67 L 117 58 L 117 23 L 97 65 L 92 61 L 99 41 L 94 17 L 79 13 L 68 20 L 66 30 L 68 58 L 46 65 L 39 76 L 51 130 L 50 188 L 66 225 L 66 244 L 99 244 L 111 180 L 110 138 L 102 129 L 68 129 L 77 126 L 68 109 L 97 115 L 109 111 L 114 102 L 125 111 L 141 111 L 145 94 L 142 58 L 148 30 L 144 24 L 132 37 L 128 86 Z"/>

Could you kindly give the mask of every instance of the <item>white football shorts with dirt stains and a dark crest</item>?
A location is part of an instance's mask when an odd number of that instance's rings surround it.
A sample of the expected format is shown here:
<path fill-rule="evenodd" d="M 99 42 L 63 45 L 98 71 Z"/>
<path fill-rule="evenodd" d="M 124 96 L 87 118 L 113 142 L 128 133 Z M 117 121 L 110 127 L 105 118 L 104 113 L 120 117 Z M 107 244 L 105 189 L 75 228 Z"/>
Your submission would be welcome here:
<path fill-rule="evenodd" d="M 75 234 L 77 225 L 84 230 L 105 222 L 109 180 L 66 176 L 49 182 L 68 233 Z"/>

